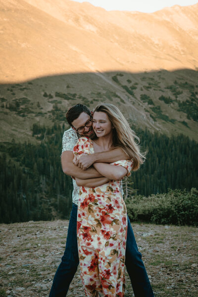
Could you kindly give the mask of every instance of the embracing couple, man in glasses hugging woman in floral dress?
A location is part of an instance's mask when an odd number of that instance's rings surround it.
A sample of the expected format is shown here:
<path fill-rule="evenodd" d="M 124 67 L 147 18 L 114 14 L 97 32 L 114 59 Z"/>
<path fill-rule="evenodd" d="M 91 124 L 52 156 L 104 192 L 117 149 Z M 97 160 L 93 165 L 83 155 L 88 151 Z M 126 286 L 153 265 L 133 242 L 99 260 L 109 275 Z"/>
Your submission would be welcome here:
<path fill-rule="evenodd" d="M 49 297 L 66 296 L 79 261 L 88 297 L 124 297 L 124 265 L 135 297 L 152 297 L 122 196 L 122 178 L 145 158 L 137 137 L 112 104 L 99 104 L 93 113 L 76 104 L 66 117 L 71 128 L 63 135 L 61 162 L 73 177 L 73 206 Z"/>

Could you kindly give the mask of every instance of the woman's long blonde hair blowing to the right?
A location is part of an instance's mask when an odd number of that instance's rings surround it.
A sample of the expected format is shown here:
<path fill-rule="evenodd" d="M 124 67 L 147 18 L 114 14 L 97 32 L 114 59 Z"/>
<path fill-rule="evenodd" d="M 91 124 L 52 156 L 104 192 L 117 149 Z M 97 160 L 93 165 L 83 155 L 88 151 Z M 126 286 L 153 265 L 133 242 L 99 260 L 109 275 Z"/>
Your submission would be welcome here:
<path fill-rule="evenodd" d="M 140 165 L 146 159 L 145 155 L 140 152 L 140 139 L 130 128 L 129 123 L 121 113 L 121 111 L 110 103 L 99 104 L 94 112 L 105 112 L 111 121 L 113 129 L 113 145 L 121 147 L 130 159 L 133 159 L 133 170 L 138 170 Z M 135 139 L 138 143 L 135 142 Z"/>

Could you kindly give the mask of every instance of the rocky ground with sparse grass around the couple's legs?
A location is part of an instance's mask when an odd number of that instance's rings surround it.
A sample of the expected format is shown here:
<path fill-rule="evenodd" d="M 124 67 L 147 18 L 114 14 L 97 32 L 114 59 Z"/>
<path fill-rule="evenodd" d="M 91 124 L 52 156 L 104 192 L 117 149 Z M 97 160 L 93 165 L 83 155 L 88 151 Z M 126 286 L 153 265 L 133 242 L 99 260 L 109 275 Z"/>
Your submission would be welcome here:
<path fill-rule="evenodd" d="M 198 297 L 198 228 L 132 224 L 155 297 Z M 0 297 L 46 297 L 64 252 L 68 221 L 0 225 Z M 126 273 L 125 297 L 133 290 Z M 85 297 L 80 271 L 68 297 Z"/>

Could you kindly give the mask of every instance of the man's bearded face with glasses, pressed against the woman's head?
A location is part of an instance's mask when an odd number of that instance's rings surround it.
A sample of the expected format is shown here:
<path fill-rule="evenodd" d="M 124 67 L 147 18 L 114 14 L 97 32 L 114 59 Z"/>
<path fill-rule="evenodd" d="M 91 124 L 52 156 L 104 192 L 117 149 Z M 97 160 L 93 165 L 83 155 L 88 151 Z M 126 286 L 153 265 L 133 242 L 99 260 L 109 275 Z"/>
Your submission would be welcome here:
<path fill-rule="evenodd" d="M 87 136 L 91 139 L 96 138 L 96 134 L 92 128 L 92 125 L 90 127 L 86 127 L 85 125 L 90 121 L 90 116 L 86 112 L 82 112 L 77 119 L 75 119 L 72 122 L 72 126 L 75 130 L 78 130 L 79 128 L 84 127 L 84 131 L 78 132 L 80 136 Z"/>

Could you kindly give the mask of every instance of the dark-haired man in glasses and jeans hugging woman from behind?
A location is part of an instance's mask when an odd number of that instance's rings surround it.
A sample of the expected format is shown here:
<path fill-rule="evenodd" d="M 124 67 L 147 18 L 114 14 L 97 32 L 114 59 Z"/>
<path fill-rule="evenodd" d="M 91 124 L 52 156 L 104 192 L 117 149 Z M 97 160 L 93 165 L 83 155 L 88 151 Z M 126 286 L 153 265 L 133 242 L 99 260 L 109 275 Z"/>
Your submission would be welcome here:
<path fill-rule="evenodd" d="M 67 121 L 71 128 L 64 132 L 61 163 L 63 172 L 67 175 L 80 179 L 106 179 L 102 177 L 91 165 L 95 162 L 112 163 L 127 159 L 128 156 L 121 148 L 95 153 L 89 156 L 81 156 L 79 162 L 73 163 L 73 148 L 80 136 L 94 139 L 95 133 L 92 128 L 92 115 L 89 108 L 83 104 L 76 104 L 67 112 Z M 79 187 L 73 180 L 74 191 L 72 193 L 72 211 L 69 220 L 67 241 L 62 261 L 55 273 L 49 297 L 65 297 L 69 285 L 76 273 L 79 258 L 77 246 L 77 209 Z M 131 279 L 135 297 L 153 297 L 153 292 L 148 280 L 148 275 L 142 261 L 142 255 L 138 251 L 134 233 L 128 218 L 127 244 L 125 265 Z"/>

